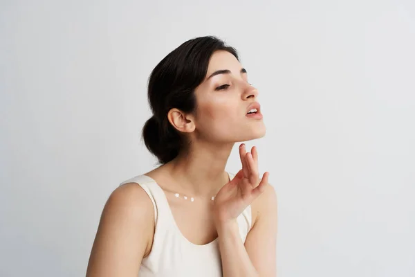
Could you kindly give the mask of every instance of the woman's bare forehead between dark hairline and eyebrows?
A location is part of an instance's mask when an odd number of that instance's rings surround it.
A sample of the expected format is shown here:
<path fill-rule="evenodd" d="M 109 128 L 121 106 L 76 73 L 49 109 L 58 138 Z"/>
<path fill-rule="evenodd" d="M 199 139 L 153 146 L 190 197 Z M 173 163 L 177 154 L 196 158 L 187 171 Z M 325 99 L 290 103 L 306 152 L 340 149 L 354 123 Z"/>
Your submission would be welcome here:
<path fill-rule="evenodd" d="M 212 57 L 210 57 L 208 73 L 206 73 L 206 76 L 208 77 L 214 73 L 214 71 L 222 69 L 228 69 L 232 71 L 232 73 L 239 75 L 241 67 L 241 63 L 237 58 L 228 51 L 216 51 L 213 53 Z"/>

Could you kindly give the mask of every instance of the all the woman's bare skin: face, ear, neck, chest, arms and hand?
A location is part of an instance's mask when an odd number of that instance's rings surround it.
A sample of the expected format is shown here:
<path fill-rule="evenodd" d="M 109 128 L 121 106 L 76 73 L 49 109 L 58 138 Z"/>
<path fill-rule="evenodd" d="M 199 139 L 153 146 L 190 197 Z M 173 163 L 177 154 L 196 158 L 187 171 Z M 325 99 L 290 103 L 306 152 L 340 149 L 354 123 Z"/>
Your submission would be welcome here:
<path fill-rule="evenodd" d="M 212 76 L 223 69 L 227 73 Z M 217 51 L 195 94 L 196 114 L 171 109 L 167 115 L 192 141 L 190 150 L 145 175 L 163 189 L 187 240 L 206 244 L 218 238 L 223 276 L 276 276 L 277 197 L 269 173 L 259 178 L 257 149 L 246 152 L 242 145 L 241 171 L 232 181 L 225 172 L 235 141 L 258 139 L 266 132 L 262 120 L 246 117 L 258 91 L 232 54 Z M 195 201 L 177 199 L 174 193 L 192 195 Z M 243 243 L 236 218 L 249 204 L 252 228 Z M 154 224 L 153 204 L 140 186 L 116 188 L 102 211 L 86 276 L 138 276 L 142 258 L 151 251 Z"/>

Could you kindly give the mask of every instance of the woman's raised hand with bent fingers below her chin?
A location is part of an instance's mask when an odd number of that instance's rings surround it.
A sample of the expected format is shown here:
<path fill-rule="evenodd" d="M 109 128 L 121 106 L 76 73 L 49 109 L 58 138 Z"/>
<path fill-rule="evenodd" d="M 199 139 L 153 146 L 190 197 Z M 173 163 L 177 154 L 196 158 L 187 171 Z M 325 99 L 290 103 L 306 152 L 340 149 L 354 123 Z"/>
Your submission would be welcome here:
<path fill-rule="evenodd" d="M 262 179 L 259 179 L 257 148 L 254 146 L 247 153 L 245 144 L 242 143 L 239 146 L 239 156 L 242 169 L 219 190 L 214 199 L 216 224 L 235 220 L 268 185 L 269 172 L 265 172 Z"/>

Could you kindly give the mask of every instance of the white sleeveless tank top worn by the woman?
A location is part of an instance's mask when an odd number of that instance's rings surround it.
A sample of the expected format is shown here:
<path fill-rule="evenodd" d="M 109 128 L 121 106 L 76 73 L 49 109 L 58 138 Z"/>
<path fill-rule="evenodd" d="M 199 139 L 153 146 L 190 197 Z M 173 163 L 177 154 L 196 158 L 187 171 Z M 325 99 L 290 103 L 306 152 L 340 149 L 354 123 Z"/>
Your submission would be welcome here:
<path fill-rule="evenodd" d="M 233 179 L 234 175 L 228 175 Z M 138 276 L 222 276 L 217 238 L 208 244 L 193 244 L 178 229 L 167 197 L 154 179 L 147 175 L 138 175 L 123 181 L 120 186 L 127 183 L 139 184 L 149 195 L 156 222 L 153 246 L 149 255 L 142 259 Z M 239 215 L 237 222 L 239 234 L 245 242 L 252 225 L 250 206 Z"/>

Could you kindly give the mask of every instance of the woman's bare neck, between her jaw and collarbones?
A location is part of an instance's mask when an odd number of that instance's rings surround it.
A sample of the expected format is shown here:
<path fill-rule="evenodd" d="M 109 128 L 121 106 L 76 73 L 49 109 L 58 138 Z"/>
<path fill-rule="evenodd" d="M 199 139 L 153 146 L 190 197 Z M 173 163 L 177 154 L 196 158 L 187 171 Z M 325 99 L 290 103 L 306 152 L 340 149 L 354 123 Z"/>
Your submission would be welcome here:
<path fill-rule="evenodd" d="M 194 197 L 212 197 L 229 181 L 225 166 L 234 143 L 198 143 L 166 164 L 178 186 Z"/>

